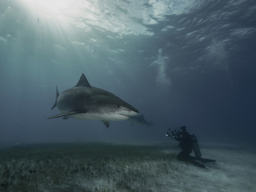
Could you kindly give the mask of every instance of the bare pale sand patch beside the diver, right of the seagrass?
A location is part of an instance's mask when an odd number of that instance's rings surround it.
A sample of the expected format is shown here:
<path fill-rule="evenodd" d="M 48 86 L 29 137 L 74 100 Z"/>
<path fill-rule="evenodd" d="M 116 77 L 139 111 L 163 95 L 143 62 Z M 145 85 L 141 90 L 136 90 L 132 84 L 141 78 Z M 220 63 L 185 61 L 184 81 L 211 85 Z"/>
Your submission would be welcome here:
<path fill-rule="evenodd" d="M 206 169 L 183 163 L 183 174 L 177 179 L 186 183 L 188 190 L 181 191 L 256 191 L 255 148 L 201 147 L 203 158 L 215 159 L 216 163 L 203 163 Z M 170 185 L 170 183 L 172 183 Z M 164 190 L 175 182 L 168 176 Z M 176 191 L 177 190 L 177 184 Z M 164 191 L 163 190 L 163 191 Z"/>

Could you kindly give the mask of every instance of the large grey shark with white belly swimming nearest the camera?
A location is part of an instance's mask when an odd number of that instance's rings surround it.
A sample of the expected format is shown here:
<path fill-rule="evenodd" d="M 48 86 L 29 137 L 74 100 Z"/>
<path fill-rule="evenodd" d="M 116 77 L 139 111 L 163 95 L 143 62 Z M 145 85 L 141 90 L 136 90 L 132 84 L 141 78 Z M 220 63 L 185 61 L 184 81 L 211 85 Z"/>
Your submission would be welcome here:
<path fill-rule="evenodd" d="M 116 95 L 92 87 L 83 73 L 76 86 L 71 89 L 59 94 L 56 86 L 56 99 L 52 109 L 56 106 L 61 114 L 47 119 L 68 116 L 81 120 L 101 120 L 106 127 L 110 126 L 110 121 L 126 120 L 139 113 Z"/>

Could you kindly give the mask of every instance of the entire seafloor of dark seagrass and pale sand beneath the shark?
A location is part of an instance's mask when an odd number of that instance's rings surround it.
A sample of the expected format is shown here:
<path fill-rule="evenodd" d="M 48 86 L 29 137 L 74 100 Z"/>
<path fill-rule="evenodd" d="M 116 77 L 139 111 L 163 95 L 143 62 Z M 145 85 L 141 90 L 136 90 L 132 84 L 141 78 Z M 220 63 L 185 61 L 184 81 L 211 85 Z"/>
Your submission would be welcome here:
<path fill-rule="evenodd" d="M 217 162 L 200 168 L 177 161 L 176 146 L 12 146 L 0 150 L 0 190 L 256 191 L 256 148 L 202 145 L 202 157 Z"/>

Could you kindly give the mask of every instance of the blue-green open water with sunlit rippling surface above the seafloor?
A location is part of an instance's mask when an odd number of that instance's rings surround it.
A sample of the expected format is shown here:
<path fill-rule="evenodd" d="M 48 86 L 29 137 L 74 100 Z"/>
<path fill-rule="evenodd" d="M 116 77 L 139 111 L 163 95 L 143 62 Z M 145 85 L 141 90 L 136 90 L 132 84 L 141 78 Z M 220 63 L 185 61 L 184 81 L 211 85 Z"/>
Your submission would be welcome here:
<path fill-rule="evenodd" d="M 0 1 L 0 144 L 200 142 L 255 146 L 256 2 Z M 55 86 L 89 83 L 132 104 L 128 120 L 47 117 Z"/>

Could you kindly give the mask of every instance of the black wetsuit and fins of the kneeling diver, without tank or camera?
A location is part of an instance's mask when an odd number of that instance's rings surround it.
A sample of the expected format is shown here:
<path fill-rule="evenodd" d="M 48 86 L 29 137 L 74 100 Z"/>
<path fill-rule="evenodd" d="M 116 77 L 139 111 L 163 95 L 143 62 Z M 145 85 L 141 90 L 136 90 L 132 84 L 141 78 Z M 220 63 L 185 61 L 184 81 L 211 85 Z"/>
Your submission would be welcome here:
<path fill-rule="evenodd" d="M 205 168 L 205 166 L 203 164 L 200 164 L 196 160 L 202 161 L 203 163 L 215 162 L 215 160 L 203 159 L 201 157 L 193 157 L 189 155 L 193 150 L 193 141 L 191 140 L 191 137 L 187 132 L 181 132 L 180 134 L 177 134 L 174 138 L 176 141 L 180 141 L 179 146 L 182 149 L 182 151 L 177 155 L 177 159 L 179 161 L 188 161 L 202 168 Z"/>

